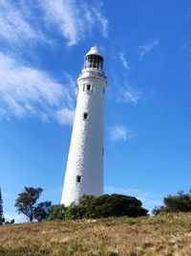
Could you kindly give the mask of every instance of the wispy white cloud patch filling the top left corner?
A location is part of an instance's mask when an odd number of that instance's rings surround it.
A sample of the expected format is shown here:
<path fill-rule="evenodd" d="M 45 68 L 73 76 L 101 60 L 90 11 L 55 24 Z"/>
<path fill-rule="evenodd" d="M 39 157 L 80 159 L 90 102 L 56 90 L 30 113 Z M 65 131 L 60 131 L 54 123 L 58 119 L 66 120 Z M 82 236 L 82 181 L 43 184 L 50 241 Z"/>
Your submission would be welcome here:
<path fill-rule="evenodd" d="M 9 0 L 0 1 L 0 37 L 10 44 L 42 39 L 42 35 L 32 28 L 27 17 Z"/>

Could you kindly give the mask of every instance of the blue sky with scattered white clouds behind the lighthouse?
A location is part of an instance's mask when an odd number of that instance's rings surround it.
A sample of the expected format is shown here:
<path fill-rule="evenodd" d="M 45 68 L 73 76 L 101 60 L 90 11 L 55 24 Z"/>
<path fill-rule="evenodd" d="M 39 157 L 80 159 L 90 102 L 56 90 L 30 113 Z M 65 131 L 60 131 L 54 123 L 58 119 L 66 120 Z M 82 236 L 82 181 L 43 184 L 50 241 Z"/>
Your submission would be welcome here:
<path fill-rule="evenodd" d="M 105 193 L 153 209 L 191 180 L 189 0 L 1 0 L 0 186 L 7 219 L 24 186 L 59 203 L 76 79 L 104 55 Z"/>

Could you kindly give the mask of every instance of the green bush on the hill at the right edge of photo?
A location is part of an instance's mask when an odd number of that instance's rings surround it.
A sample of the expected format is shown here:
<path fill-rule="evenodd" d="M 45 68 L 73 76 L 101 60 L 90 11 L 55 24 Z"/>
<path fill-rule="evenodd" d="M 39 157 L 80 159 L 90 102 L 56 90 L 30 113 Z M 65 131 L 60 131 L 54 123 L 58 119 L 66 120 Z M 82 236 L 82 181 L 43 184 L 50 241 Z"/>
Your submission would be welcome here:
<path fill-rule="evenodd" d="M 161 213 L 191 212 L 191 193 L 184 194 L 183 191 L 178 195 L 163 198 L 164 205 L 153 210 L 154 215 Z"/>

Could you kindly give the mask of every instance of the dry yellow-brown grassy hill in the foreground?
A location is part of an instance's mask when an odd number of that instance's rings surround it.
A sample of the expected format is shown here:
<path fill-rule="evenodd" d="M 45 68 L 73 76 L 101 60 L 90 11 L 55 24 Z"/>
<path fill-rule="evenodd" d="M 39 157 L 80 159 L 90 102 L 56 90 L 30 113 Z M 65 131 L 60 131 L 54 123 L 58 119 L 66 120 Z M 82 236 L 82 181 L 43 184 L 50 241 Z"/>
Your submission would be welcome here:
<path fill-rule="evenodd" d="M 0 255 L 189 256 L 191 213 L 4 225 Z"/>

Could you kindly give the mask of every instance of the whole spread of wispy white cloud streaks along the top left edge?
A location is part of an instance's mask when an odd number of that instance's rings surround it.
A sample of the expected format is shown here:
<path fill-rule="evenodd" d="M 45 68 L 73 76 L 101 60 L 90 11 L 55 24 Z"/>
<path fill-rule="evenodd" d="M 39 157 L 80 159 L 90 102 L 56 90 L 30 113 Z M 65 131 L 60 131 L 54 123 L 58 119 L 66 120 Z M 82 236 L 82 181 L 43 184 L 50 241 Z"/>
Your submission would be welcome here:
<path fill-rule="evenodd" d="M 108 35 L 108 19 L 101 11 L 101 4 L 87 4 L 81 0 L 37 0 L 30 11 L 25 1 L 0 1 L 0 39 L 11 45 L 22 46 L 25 42 L 50 42 L 50 31 L 56 30 L 66 38 L 67 45 L 77 44 L 93 29 Z M 35 12 L 43 15 L 35 15 Z"/>

